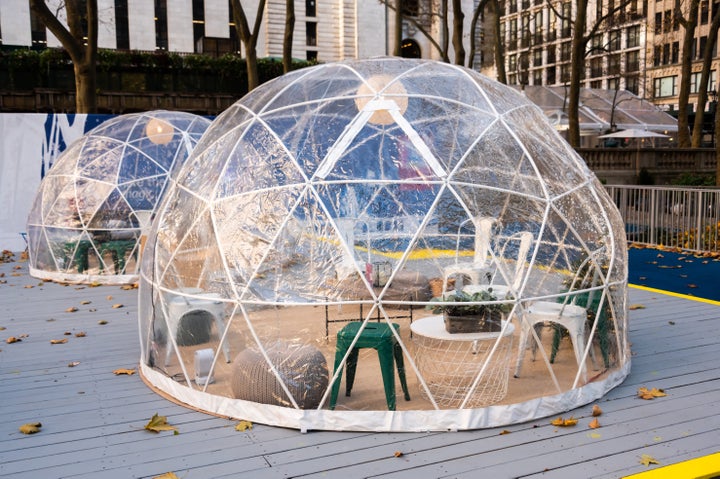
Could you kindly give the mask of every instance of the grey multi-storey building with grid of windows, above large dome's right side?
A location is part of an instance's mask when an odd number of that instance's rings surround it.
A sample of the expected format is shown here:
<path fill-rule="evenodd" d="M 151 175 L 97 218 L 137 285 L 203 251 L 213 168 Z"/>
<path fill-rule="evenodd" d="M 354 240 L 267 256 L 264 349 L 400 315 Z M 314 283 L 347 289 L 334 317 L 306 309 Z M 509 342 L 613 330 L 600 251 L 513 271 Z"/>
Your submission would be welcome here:
<path fill-rule="evenodd" d="M 588 2 L 586 31 L 614 8 L 614 2 Z M 645 5 L 632 1 L 611 16 L 588 42 L 583 86 L 626 89 L 645 95 Z M 577 2 L 504 0 L 500 36 L 505 47 L 509 84 L 567 85 Z M 486 55 L 491 60 L 489 55 Z"/>

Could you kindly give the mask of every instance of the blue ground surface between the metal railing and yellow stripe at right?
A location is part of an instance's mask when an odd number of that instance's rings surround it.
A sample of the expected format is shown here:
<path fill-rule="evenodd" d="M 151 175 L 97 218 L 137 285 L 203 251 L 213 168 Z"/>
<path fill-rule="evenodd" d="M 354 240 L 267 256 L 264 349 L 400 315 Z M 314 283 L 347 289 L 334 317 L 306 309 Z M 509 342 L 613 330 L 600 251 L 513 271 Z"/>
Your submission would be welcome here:
<path fill-rule="evenodd" d="M 720 301 L 720 259 L 659 249 L 628 250 L 628 282 Z"/>

